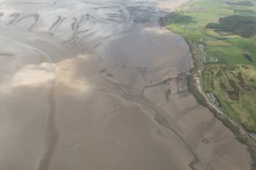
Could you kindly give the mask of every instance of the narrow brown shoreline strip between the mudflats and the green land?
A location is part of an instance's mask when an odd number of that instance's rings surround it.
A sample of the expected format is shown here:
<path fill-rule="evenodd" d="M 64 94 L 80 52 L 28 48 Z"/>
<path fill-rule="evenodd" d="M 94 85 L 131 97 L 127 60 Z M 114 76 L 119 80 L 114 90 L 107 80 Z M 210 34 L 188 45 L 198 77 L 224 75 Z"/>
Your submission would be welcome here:
<path fill-rule="evenodd" d="M 183 3 L 180 3 L 180 5 L 177 5 L 175 8 L 175 11 L 178 11 L 178 8 L 182 5 L 186 5 L 187 3 L 195 2 L 195 0 L 189 0 Z M 171 13 L 173 13 L 172 11 Z M 165 27 L 161 21 L 159 21 L 161 27 Z M 165 29 L 167 29 L 165 27 Z M 187 88 L 191 92 L 191 94 L 196 98 L 196 101 L 201 104 L 203 107 L 206 107 L 209 109 L 209 111 L 214 114 L 214 116 L 220 120 L 225 127 L 228 127 L 229 130 L 232 131 L 232 133 L 235 134 L 236 139 L 240 142 L 245 144 L 249 147 L 249 150 L 256 152 L 256 144 L 255 144 L 255 138 L 248 133 L 247 130 L 245 130 L 244 127 L 241 126 L 240 123 L 236 122 L 235 120 L 232 120 L 231 117 L 228 117 L 228 114 L 225 113 L 225 111 L 222 110 L 221 107 L 213 104 L 209 98 L 207 98 L 206 93 L 203 91 L 202 87 L 202 73 L 204 72 L 204 66 L 203 63 L 199 60 L 199 47 L 198 44 L 194 43 L 192 40 L 190 40 L 188 37 L 186 37 L 183 34 L 177 33 L 175 30 L 167 29 L 171 32 L 180 35 L 183 37 L 183 39 L 186 41 L 187 45 L 190 47 L 190 53 L 193 59 L 193 68 L 190 69 L 190 75 L 187 78 Z"/>

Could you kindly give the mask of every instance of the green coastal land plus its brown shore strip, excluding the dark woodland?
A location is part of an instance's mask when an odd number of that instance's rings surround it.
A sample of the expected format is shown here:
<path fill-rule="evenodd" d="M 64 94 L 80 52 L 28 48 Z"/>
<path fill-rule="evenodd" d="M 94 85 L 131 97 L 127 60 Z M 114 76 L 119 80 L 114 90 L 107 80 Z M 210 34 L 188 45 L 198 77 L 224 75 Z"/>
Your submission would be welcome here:
<path fill-rule="evenodd" d="M 194 68 L 190 71 L 188 88 L 199 104 L 208 107 L 241 143 L 256 151 L 256 143 L 251 135 L 256 132 L 256 88 L 254 79 L 250 77 L 256 70 L 256 56 L 251 55 L 256 49 L 255 38 L 206 29 L 207 24 L 217 23 L 219 18 L 237 12 L 241 16 L 254 17 L 256 11 L 254 13 L 254 6 L 251 6 L 254 2 L 251 5 L 225 3 L 193 0 L 177 8 L 173 14 L 161 18 L 160 24 L 182 35 L 190 45 Z M 242 34 L 243 28 L 238 31 Z M 250 58 L 245 54 L 250 54 Z M 251 74 L 248 74 L 247 68 Z M 250 110 L 245 107 L 248 102 Z"/>

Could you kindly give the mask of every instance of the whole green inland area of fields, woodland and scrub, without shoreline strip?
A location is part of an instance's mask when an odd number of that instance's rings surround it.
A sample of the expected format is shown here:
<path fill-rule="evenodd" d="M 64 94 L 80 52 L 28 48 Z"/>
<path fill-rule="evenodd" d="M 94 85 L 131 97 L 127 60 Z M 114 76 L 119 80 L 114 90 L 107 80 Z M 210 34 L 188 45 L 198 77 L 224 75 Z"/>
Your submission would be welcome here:
<path fill-rule="evenodd" d="M 248 26 L 256 27 L 251 21 L 256 21 L 256 0 L 194 0 L 160 23 L 197 44 L 206 95 L 249 133 L 256 133 L 256 36 L 246 34 Z M 206 29 L 209 23 L 215 29 Z"/>

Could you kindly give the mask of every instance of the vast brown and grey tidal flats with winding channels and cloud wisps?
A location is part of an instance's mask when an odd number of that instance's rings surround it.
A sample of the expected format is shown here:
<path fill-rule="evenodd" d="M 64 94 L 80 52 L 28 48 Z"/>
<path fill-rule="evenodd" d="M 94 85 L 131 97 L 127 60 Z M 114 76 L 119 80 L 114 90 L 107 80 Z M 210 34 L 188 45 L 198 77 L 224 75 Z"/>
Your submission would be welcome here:
<path fill-rule="evenodd" d="M 0 2 L 0 169 L 251 169 L 158 25 L 183 1 Z"/>

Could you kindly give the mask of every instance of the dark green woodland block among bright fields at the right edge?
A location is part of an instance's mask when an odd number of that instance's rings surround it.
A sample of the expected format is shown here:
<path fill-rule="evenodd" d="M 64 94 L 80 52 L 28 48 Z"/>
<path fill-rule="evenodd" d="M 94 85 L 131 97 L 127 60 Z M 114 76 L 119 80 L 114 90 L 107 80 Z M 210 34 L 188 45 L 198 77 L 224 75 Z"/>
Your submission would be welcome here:
<path fill-rule="evenodd" d="M 232 15 L 219 18 L 219 23 L 209 23 L 208 29 L 217 32 L 231 32 L 241 37 L 252 37 L 256 32 L 256 18 L 253 16 Z"/>

